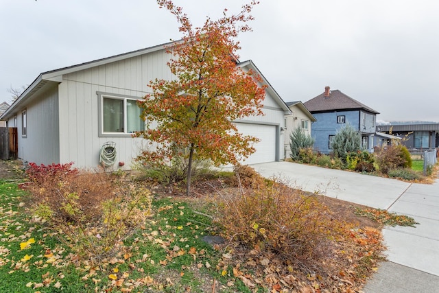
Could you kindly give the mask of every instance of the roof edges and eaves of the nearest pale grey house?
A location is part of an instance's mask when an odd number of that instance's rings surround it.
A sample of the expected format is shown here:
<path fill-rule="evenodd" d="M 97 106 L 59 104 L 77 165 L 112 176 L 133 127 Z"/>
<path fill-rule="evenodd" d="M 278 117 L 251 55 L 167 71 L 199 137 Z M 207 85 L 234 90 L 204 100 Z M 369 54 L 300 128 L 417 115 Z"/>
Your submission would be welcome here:
<path fill-rule="evenodd" d="M 130 51 L 130 52 L 124 53 L 124 54 L 118 54 L 118 55 L 110 56 L 107 58 L 97 59 L 97 60 L 93 60 L 93 61 L 89 61 L 89 62 L 80 63 L 78 65 L 72 65 L 69 67 L 63 67 L 60 69 L 55 69 L 55 70 L 45 71 L 43 73 L 40 73 L 40 75 L 38 75 L 38 77 L 34 80 L 34 82 L 32 82 L 32 84 L 30 84 L 27 87 L 27 89 L 25 89 L 25 91 L 23 91 L 23 93 L 20 95 L 20 97 L 14 101 L 14 103 L 8 108 L 8 110 L 5 110 L 5 113 L 3 113 L 0 116 L 0 119 L 8 119 L 8 118 L 12 117 L 12 115 L 14 115 L 14 111 L 16 111 L 15 109 L 18 107 L 25 106 L 35 96 L 34 95 L 35 93 L 37 93 L 39 91 L 44 91 L 47 87 L 49 87 L 53 84 L 59 84 L 60 82 L 62 82 L 62 75 L 64 75 L 64 74 L 68 74 L 68 73 L 72 73 L 72 72 L 80 71 L 80 70 L 84 70 L 84 69 L 89 69 L 89 68 L 97 67 L 100 65 L 106 65 L 106 64 L 111 63 L 111 62 L 117 62 L 119 60 L 125 60 L 128 58 L 141 56 L 143 54 L 152 53 L 154 51 L 159 51 L 161 49 L 165 49 L 166 47 L 169 47 L 169 45 L 171 45 L 173 43 L 180 42 L 180 41 L 181 40 L 176 40 L 174 42 L 163 43 L 161 45 L 147 47 L 145 49 Z M 267 91 L 272 95 L 272 97 L 274 97 L 274 99 L 276 99 L 276 102 L 278 102 L 279 106 L 281 106 L 281 108 L 283 110 L 285 110 L 285 112 L 291 113 L 288 106 L 285 104 L 285 102 L 283 102 L 283 99 L 278 95 L 278 93 L 276 93 L 276 91 L 273 89 L 273 87 L 268 82 L 268 80 L 265 79 L 265 77 L 262 75 L 261 71 L 259 71 L 259 69 L 257 69 L 257 67 L 254 65 L 254 63 L 251 60 L 248 60 L 245 62 L 239 62 L 239 60 L 237 60 L 237 65 L 239 67 L 251 67 L 252 70 L 257 71 L 257 73 L 259 73 L 259 75 L 261 75 L 261 77 L 263 78 L 263 81 L 265 82 L 265 84 L 268 85 Z"/>

